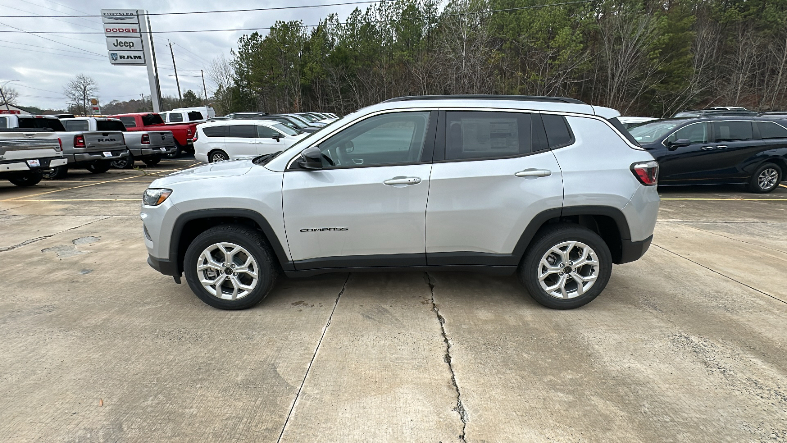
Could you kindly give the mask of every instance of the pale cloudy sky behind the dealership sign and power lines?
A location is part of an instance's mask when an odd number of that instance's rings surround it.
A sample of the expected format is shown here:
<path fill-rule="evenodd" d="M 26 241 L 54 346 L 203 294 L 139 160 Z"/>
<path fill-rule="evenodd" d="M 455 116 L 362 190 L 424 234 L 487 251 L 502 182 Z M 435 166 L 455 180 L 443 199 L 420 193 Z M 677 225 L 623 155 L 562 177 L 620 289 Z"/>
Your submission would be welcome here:
<path fill-rule="evenodd" d="M 150 95 L 144 66 L 113 66 L 109 64 L 101 17 L 22 18 L 13 16 L 98 15 L 101 9 L 147 9 L 149 13 L 248 9 L 275 6 L 320 5 L 352 0 L 235 0 L 205 2 L 202 0 L 0 0 L 0 31 L 99 32 L 98 34 L 29 34 L 0 32 L 0 86 L 6 80 L 20 94 L 20 106 L 65 109 L 63 86 L 77 74 L 92 76 L 98 83 L 102 102 L 128 100 L 140 94 Z M 364 8 L 365 5 L 358 5 Z M 205 13 L 150 17 L 153 32 L 204 30 L 224 28 L 266 28 L 276 20 L 303 20 L 316 24 L 328 13 L 345 18 L 356 6 L 255 11 L 243 13 Z M 267 31 L 260 31 L 267 33 Z M 250 33 L 250 32 L 246 32 Z M 154 34 L 162 95 L 177 96 L 172 76 L 172 57 L 168 42 L 175 52 L 181 91 L 202 91 L 200 69 L 207 69 L 212 59 L 224 54 L 229 57 L 244 32 L 193 32 Z M 205 73 L 208 92 L 212 82 Z"/>

